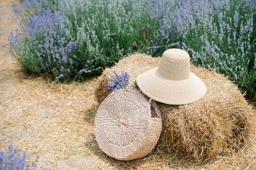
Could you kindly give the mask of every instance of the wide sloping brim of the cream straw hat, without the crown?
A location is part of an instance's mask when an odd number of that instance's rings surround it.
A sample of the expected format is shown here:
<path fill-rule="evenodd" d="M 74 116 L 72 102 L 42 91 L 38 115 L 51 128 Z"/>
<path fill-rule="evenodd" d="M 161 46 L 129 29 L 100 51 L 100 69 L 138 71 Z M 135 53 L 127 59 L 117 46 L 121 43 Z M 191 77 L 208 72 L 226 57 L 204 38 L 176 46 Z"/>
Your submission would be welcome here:
<path fill-rule="evenodd" d="M 153 100 L 184 105 L 199 100 L 207 92 L 205 84 L 192 72 L 185 80 L 172 81 L 159 76 L 157 69 L 148 70 L 136 78 L 139 89 Z"/>

